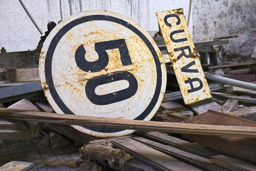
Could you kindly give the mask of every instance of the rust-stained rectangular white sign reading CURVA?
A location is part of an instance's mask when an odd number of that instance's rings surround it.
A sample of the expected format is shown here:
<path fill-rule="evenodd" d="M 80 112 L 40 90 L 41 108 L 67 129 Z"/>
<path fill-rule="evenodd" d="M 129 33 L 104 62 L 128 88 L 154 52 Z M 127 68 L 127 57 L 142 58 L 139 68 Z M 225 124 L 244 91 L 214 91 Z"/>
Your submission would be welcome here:
<path fill-rule="evenodd" d="M 156 15 L 185 104 L 212 97 L 194 51 L 183 9 L 157 12 Z"/>

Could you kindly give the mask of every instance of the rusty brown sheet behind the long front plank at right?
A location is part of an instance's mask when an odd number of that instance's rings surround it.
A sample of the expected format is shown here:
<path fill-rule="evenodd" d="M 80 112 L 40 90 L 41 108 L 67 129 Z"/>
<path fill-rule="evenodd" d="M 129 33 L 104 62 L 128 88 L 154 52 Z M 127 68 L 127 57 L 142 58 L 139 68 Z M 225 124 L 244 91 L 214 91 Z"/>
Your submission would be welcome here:
<path fill-rule="evenodd" d="M 186 120 L 188 124 L 209 124 L 209 125 L 236 125 L 251 126 L 256 128 L 256 122 L 230 116 L 209 110 L 201 115 Z M 256 163 L 256 141 L 253 137 L 227 137 L 227 136 L 208 136 L 208 135 L 188 135 L 182 134 L 199 144 L 219 151 L 227 156 L 235 157 L 245 161 Z M 234 150 L 235 149 L 235 150 Z"/>

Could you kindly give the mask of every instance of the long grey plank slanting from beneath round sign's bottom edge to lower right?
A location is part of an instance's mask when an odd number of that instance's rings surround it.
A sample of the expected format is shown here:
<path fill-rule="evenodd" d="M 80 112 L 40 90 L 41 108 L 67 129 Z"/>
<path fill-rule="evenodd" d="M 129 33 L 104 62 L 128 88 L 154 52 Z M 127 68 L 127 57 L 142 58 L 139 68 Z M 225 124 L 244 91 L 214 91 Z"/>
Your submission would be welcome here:
<path fill-rule="evenodd" d="M 150 146 L 151 148 L 154 148 L 155 150 L 161 151 L 171 157 L 174 157 L 180 161 L 186 162 L 189 165 L 194 165 L 196 167 L 199 167 L 203 170 L 226 170 L 225 168 L 219 167 L 217 165 L 214 165 L 210 162 L 210 159 L 198 156 L 196 154 L 183 151 L 177 148 L 174 148 L 169 145 L 164 145 L 155 141 L 151 141 L 148 139 L 144 139 L 142 137 L 133 137 L 132 139 L 139 141 L 143 144 L 146 144 Z"/>

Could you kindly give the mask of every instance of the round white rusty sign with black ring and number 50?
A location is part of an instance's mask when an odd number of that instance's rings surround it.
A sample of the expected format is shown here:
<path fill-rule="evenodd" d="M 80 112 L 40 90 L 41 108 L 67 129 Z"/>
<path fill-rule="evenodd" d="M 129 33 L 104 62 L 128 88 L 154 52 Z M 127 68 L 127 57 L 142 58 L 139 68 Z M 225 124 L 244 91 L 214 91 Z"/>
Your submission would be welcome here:
<path fill-rule="evenodd" d="M 109 11 L 71 15 L 47 36 L 39 59 L 45 96 L 57 113 L 150 120 L 163 100 L 166 68 L 137 23 Z M 132 130 L 73 126 L 98 137 Z"/>

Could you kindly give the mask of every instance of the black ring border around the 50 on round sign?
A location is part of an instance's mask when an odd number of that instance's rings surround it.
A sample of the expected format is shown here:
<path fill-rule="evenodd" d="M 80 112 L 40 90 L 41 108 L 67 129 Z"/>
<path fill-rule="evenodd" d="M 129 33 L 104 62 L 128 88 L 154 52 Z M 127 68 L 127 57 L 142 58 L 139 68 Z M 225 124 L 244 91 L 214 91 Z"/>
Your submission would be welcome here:
<path fill-rule="evenodd" d="M 122 25 L 122 26 L 130 29 L 131 31 L 133 31 L 135 34 L 137 34 L 143 40 L 143 42 L 147 45 L 151 54 L 153 55 L 153 58 L 154 58 L 154 61 L 156 64 L 156 72 L 157 72 L 155 93 L 154 93 L 154 96 L 151 99 L 148 107 L 134 120 L 145 119 L 148 116 L 148 114 L 154 109 L 155 104 L 158 101 L 159 94 L 161 92 L 162 69 L 161 69 L 161 64 L 160 64 L 158 55 L 155 51 L 154 46 L 150 43 L 150 41 L 147 39 L 147 37 L 142 34 L 142 32 L 140 30 L 138 30 L 137 28 L 132 26 L 127 21 L 124 21 L 122 19 L 112 17 L 109 15 L 89 15 L 89 16 L 85 16 L 85 17 L 81 17 L 76 20 L 73 20 L 73 21 L 69 22 L 67 25 L 63 26 L 51 40 L 51 43 L 47 50 L 46 58 L 45 58 L 45 79 L 46 79 L 46 84 L 49 87 L 49 91 L 52 95 L 53 100 L 58 105 L 58 107 L 62 110 L 63 113 L 75 115 L 75 113 L 70 111 L 68 109 L 68 107 L 65 105 L 65 103 L 60 99 L 60 96 L 58 95 L 58 93 L 54 87 L 54 83 L 53 83 L 53 79 L 52 79 L 52 58 L 53 58 L 55 48 L 57 47 L 57 45 L 58 45 L 60 39 L 63 37 L 63 35 L 65 35 L 71 28 L 73 28 L 77 25 L 80 25 L 81 23 L 94 21 L 94 20 L 115 22 L 119 25 Z M 95 131 L 95 132 L 101 132 L 101 133 L 116 133 L 116 132 L 123 130 L 123 129 L 95 128 L 95 127 L 84 127 L 84 128 L 90 129 L 91 131 Z"/>

